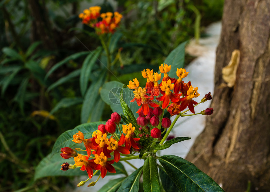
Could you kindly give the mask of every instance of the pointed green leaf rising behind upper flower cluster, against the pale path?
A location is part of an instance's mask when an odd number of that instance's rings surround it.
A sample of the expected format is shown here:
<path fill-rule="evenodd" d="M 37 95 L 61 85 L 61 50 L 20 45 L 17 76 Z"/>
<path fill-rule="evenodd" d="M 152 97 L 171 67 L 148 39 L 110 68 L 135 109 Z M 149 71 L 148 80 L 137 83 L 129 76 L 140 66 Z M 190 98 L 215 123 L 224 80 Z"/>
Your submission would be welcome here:
<path fill-rule="evenodd" d="M 171 78 L 177 78 L 176 70 L 177 68 L 184 67 L 185 61 L 185 46 L 186 41 L 178 45 L 174 50 L 170 52 L 170 54 L 165 59 L 164 63 L 171 65 L 171 69 L 168 72 L 168 75 Z"/>

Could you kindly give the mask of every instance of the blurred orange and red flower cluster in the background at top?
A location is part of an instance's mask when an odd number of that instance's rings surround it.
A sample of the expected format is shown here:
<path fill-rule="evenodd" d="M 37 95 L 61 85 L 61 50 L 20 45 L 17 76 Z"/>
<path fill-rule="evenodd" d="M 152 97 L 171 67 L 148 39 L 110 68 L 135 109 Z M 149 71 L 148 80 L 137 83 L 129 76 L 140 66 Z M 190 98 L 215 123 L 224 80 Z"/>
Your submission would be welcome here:
<path fill-rule="evenodd" d="M 101 7 L 95 6 L 85 9 L 83 13 L 79 14 L 82 23 L 95 28 L 96 33 L 114 33 L 122 19 L 122 15 L 118 12 L 107 12 L 100 14 Z M 101 21 L 100 21 L 101 20 Z"/>

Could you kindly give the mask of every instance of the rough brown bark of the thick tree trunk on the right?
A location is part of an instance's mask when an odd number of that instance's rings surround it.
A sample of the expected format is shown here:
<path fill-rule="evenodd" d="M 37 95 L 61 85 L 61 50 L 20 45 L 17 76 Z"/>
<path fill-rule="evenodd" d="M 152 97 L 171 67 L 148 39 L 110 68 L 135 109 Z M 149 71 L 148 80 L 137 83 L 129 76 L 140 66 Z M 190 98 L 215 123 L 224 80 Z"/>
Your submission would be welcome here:
<path fill-rule="evenodd" d="M 222 68 L 240 50 L 234 87 Z M 186 159 L 227 192 L 270 191 L 270 1 L 225 0 L 215 89 L 204 131 Z"/>

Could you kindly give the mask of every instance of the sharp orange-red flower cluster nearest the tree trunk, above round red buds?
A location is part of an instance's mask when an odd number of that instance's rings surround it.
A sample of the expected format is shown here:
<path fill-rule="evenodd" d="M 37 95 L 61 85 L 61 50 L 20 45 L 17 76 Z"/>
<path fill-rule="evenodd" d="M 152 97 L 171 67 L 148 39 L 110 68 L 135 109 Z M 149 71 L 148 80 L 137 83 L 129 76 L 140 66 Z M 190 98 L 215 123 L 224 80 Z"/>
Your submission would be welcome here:
<path fill-rule="evenodd" d="M 167 109 L 171 116 L 180 114 L 187 107 L 193 114 L 195 113 L 194 105 L 198 103 L 193 99 L 200 95 L 197 93 L 198 88 L 192 87 L 190 81 L 188 83 L 182 81 L 182 78 L 185 78 L 188 74 L 185 68 L 177 68 L 178 79 L 169 77 L 170 69 L 171 66 L 167 64 L 159 66 L 159 71 L 164 73 L 161 83 L 158 83 L 161 79 L 161 73 L 153 73 L 153 70 L 148 68 L 143 70 L 142 75 L 147 78 L 145 88 L 139 87 L 140 83 L 137 78 L 129 81 L 128 88 L 134 90 L 134 99 L 131 101 L 136 100 L 138 106 L 141 106 L 137 113 L 143 111 L 143 114 L 147 115 L 149 107 L 156 108 L 159 106 L 162 109 Z M 154 99 L 157 101 L 154 101 Z"/>

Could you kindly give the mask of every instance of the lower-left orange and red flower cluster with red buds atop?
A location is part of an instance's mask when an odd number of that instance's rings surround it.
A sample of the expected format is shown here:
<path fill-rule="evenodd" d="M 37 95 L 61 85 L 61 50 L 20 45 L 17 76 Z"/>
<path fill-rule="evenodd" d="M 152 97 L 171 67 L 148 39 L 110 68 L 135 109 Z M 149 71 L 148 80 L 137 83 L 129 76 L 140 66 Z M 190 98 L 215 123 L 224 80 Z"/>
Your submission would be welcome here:
<path fill-rule="evenodd" d="M 113 113 L 105 125 L 98 126 L 98 130 L 92 134 L 92 138 L 84 139 L 84 134 L 81 131 L 73 135 L 73 142 L 84 143 L 87 155 L 77 154 L 75 150 L 65 147 L 61 149 L 61 156 L 64 159 L 74 157 L 74 165 L 81 167 L 82 171 L 86 170 L 89 178 L 93 176 L 93 169 L 100 170 L 102 178 L 105 177 L 107 171 L 116 173 L 112 164 L 120 160 L 120 153 L 130 154 L 133 149 L 139 149 L 137 142 L 140 140 L 140 138 L 133 138 L 135 127 L 132 127 L 131 123 L 122 125 L 123 134 L 119 139 L 115 131 L 120 120 L 120 115 Z M 110 138 L 107 137 L 108 133 L 112 135 Z M 110 159 L 111 154 L 113 154 L 113 159 Z M 64 163 L 62 170 L 67 170 L 70 166 Z"/>

